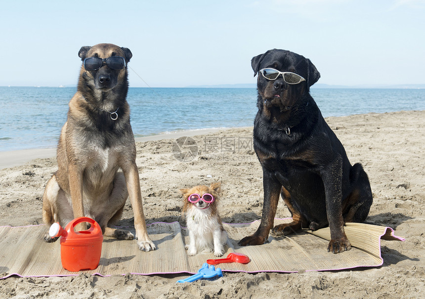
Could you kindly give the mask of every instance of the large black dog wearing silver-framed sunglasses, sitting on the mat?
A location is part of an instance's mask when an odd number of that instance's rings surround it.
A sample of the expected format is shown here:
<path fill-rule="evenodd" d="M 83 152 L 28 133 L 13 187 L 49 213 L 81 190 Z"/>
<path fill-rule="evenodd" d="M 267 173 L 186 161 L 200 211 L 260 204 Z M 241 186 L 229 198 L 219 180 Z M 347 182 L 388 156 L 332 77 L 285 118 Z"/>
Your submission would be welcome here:
<path fill-rule="evenodd" d="M 254 148 L 263 169 L 264 204 L 257 231 L 239 245 L 264 243 L 281 193 L 293 222 L 275 226 L 275 234 L 329 224 L 328 251 L 351 249 L 344 222 L 366 219 L 372 191 L 363 167 L 351 166 L 309 93 L 319 72 L 309 59 L 278 49 L 254 57 L 251 64 L 258 73 Z"/>

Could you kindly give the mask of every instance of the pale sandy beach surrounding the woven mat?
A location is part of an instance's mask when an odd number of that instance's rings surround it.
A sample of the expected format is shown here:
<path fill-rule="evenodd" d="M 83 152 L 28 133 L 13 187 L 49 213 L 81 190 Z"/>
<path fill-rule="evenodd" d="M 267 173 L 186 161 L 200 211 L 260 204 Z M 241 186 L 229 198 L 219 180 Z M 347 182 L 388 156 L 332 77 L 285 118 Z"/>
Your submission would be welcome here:
<path fill-rule="evenodd" d="M 300 273 L 224 273 L 214 281 L 176 281 L 189 275 L 81 274 L 11 276 L 1 298 L 421 298 L 425 292 L 425 111 L 326 119 L 354 164 L 369 175 L 374 203 L 367 223 L 389 226 L 405 242 L 382 241 L 378 268 Z M 247 223 L 262 209 L 262 171 L 253 128 L 196 130 L 137 138 L 137 165 L 147 223 L 179 221 L 178 189 L 221 182 L 222 220 Z M 181 136 L 195 141 L 182 146 Z M 0 152 L 0 225 L 42 224 L 42 194 L 56 171 L 54 149 Z M 279 202 L 276 217 L 290 213 Z M 127 201 L 119 225 L 131 224 Z M 324 249 L 326 250 L 326 249 Z M 143 253 L 141 253 L 143 254 Z M 0 259 L 1 261 L 1 259 Z"/>

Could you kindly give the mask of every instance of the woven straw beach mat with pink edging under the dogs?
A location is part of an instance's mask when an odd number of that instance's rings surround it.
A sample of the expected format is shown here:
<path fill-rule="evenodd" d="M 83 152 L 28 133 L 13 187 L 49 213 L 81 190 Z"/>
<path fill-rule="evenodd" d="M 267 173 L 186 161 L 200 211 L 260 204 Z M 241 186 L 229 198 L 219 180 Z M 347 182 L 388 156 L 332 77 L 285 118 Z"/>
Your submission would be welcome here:
<path fill-rule="evenodd" d="M 291 218 L 275 219 L 275 225 L 291 222 Z M 255 232 L 259 220 L 246 224 L 223 223 L 228 232 L 225 254 L 238 252 L 251 258 L 248 264 L 224 263 L 222 271 L 232 272 L 299 272 L 341 270 L 357 267 L 378 267 L 383 264 L 381 240 L 404 241 L 389 227 L 363 223 L 347 223 L 345 233 L 352 245 L 350 251 L 335 255 L 327 252 L 328 228 L 297 235 L 269 237 L 260 246 L 240 247 L 238 241 Z M 187 229 L 178 222 L 158 222 L 147 226 L 157 250 L 142 252 L 136 241 L 105 237 L 99 266 L 95 270 L 70 272 L 62 268 L 60 242 L 45 243 L 45 225 L 0 227 L 0 278 L 69 276 L 80 273 L 110 276 L 117 274 L 197 273 L 213 254 L 188 256 L 184 249 L 189 242 Z M 129 228 L 133 231 L 133 228 Z"/>

